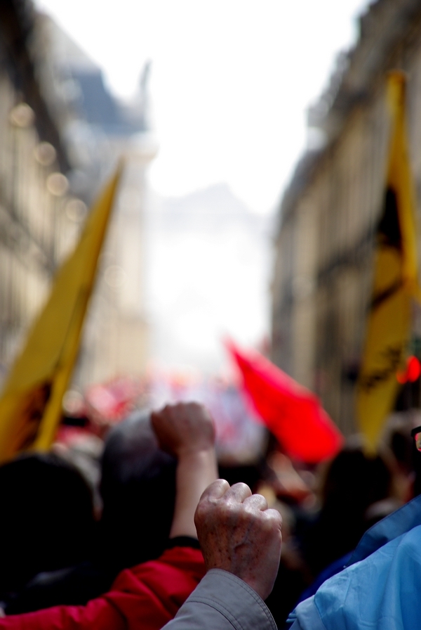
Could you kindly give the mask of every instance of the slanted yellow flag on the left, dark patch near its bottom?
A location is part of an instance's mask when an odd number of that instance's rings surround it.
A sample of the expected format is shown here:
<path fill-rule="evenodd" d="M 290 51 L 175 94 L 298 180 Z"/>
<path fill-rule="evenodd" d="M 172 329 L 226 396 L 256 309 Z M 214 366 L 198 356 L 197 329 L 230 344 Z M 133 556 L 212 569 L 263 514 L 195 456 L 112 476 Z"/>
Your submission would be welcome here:
<path fill-rule="evenodd" d="M 8 375 L 0 399 L 0 462 L 27 449 L 48 450 L 53 442 L 120 174 L 121 167 L 93 206 Z"/>

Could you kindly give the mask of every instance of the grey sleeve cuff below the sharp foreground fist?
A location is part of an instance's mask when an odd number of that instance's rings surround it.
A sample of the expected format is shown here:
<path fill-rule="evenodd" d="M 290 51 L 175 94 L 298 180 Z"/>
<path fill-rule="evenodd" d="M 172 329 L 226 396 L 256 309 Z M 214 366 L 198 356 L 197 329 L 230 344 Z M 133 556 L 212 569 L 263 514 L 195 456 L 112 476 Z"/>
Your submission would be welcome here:
<path fill-rule="evenodd" d="M 277 630 L 258 593 L 232 573 L 210 570 L 163 630 Z"/>

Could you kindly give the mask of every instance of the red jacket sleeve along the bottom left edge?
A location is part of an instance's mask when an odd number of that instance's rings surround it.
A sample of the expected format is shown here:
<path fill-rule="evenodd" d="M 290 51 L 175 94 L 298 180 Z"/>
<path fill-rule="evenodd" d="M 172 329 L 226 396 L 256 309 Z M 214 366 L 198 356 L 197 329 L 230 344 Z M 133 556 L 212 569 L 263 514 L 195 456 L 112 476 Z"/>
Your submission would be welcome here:
<path fill-rule="evenodd" d="M 54 606 L 0 619 L 0 630 L 159 630 L 205 574 L 201 551 L 174 547 L 126 569 L 86 606 Z"/>

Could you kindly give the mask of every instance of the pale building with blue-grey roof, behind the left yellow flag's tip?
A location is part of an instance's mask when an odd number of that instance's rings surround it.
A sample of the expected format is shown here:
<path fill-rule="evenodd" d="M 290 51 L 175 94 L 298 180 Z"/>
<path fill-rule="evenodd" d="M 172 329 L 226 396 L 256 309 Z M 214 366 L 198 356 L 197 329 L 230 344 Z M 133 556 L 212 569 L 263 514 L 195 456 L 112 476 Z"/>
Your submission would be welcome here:
<path fill-rule="evenodd" d="M 74 374 L 74 385 L 83 390 L 115 376 L 142 375 L 149 359 L 144 219 L 147 168 L 156 155 L 149 130 L 149 64 L 140 75 L 138 94 L 122 103 L 107 89 L 98 65 L 51 18 L 39 15 L 37 25 L 51 51 L 47 63 L 54 100 L 66 101 L 61 120 L 73 160 L 72 191 L 89 205 L 119 158 L 125 160 Z"/>

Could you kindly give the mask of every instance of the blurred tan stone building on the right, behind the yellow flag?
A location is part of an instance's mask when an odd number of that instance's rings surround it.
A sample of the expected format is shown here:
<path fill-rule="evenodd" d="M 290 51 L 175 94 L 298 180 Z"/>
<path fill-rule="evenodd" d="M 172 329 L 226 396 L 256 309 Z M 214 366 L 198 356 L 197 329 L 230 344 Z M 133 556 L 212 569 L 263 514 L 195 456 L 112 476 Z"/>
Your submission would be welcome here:
<path fill-rule="evenodd" d="M 417 0 L 377 0 L 361 17 L 359 41 L 338 58 L 328 89 L 309 110 L 312 146 L 295 170 L 279 213 L 272 358 L 320 395 L 345 434 L 355 430 L 355 382 L 387 164 L 387 72 L 396 68 L 408 75 L 410 155 L 420 215 Z"/>

